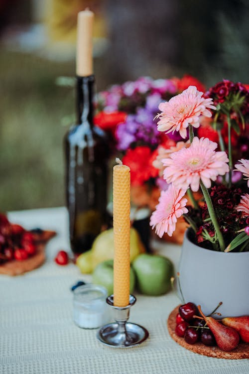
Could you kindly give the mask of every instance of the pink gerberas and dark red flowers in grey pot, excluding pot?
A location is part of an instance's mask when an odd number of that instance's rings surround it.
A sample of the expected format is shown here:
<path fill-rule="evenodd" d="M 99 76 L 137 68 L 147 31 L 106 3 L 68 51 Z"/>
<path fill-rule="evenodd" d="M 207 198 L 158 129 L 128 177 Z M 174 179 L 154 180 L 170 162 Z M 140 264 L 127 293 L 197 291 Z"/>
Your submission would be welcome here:
<path fill-rule="evenodd" d="M 198 246 L 226 252 L 248 251 L 249 180 L 246 183 L 244 179 L 249 179 L 249 90 L 241 83 L 226 80 L 205 95 L 189 86 L 159 104 L 159 110 L 158 130 L 179 131 L 183 139 L 189 134 L 189 143 L 177 143 L 175 152 L 160 157 L 167 189 L 161 191 L 151 226 L 159 237 L 164 233 L 171 236 L 177 219 L 183 215 Z M 200 137 L 203 121 L 211 136 Z M 193 192 L 199 189 L 203 198 L 196 201 Z M 186 192 L 193 207 L 186 206 Z"/>

